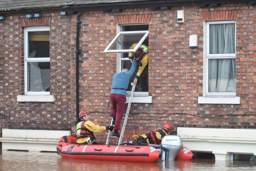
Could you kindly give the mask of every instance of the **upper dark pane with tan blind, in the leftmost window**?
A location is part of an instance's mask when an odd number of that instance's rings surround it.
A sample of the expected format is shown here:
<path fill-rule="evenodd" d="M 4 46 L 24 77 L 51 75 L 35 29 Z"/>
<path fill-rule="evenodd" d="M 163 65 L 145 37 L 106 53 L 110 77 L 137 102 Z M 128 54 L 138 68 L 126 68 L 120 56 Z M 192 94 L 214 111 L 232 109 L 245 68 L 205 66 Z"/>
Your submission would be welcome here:
<path fill-rule="evenodd" d="M 50 32 L 28 32 L 29 58 L 50 57 Z"/>

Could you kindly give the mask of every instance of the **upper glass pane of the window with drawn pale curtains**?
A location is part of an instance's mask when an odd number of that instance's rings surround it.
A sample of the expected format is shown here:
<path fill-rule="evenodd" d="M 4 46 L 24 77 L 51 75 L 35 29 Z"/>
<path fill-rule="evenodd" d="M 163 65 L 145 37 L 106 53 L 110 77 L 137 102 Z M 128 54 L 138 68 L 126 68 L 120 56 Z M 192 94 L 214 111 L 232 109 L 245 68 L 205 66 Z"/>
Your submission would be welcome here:
<path fill-rule="evenodd" d="M 210 54 L 235 53 L 235 24 L 210 24 Z"/>

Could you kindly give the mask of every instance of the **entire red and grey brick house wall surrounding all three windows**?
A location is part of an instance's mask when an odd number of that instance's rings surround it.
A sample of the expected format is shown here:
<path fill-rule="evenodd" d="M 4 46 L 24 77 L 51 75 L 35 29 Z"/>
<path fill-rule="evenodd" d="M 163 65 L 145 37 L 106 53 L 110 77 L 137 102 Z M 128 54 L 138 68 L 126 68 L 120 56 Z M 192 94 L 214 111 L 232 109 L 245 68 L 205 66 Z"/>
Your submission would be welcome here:
<path fill-rule="evenodd" d="M 116 36 L 120 23 L 149 24 L 149 95 L 151 104 L 132 104 L 125 140 L 170 123 L 177 127 L 255 129 L 255 6 L 247 3 L 199 8 L 177 6 L 166 10 L 123 9 L 122 12 L 82 11 L 80 16 L 79 109 L 90 111 L 92 120 L 109 125 L 108 107 L 116 54 L 103 53 Z M 185 23 L 177 23 L 177 9 L 184 9 Z M 65 129 L 76 124 L 75 50 L 76 15 L 51 17 L 51 95 L 54 103 L 20 103 L 24 92 L 24 14 L 0 21 L 1 94 L 0 120 L 3 128 Z M 137 17 L 138 16 L 138 17 Z M 137 17 L 137 18 L 136 18 Z M 203 21 L 236 20 L 237 96 L 241 104 L 198 104 L 203 90 Z M 10 29 L 14 29 L 11 32 Z M 189 48 L 189 35 L 197 34 L 198 48 Z M 29 122 L 28 122 L 29 121 Z M 104 141 L 104 133 L 96 135 Z"/>

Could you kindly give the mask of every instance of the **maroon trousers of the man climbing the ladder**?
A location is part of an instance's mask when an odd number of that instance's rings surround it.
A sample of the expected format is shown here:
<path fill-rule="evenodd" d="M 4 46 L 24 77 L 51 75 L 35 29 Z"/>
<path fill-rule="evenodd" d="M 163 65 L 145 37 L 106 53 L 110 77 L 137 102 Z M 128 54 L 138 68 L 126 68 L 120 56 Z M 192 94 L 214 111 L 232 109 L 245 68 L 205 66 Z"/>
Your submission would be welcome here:
<path fill-rule="evenodd" d="M 110 94 L 110 102 L 110 114 L 112 117 L 116 116 L 114 129 L 120 129 L 124 106 L 126 102 L 126 96 L 120 94 Z"/>

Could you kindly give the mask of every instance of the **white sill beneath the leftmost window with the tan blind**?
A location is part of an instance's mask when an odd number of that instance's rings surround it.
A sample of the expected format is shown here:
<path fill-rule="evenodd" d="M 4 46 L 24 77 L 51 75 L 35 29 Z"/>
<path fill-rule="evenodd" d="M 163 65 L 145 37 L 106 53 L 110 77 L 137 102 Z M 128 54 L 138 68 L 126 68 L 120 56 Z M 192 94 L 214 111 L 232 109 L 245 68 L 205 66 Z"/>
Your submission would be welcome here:
<path fill-rule="evenodd" d="M 52 95 L 18 95 L 17 102 L 54 102 Z"/>

